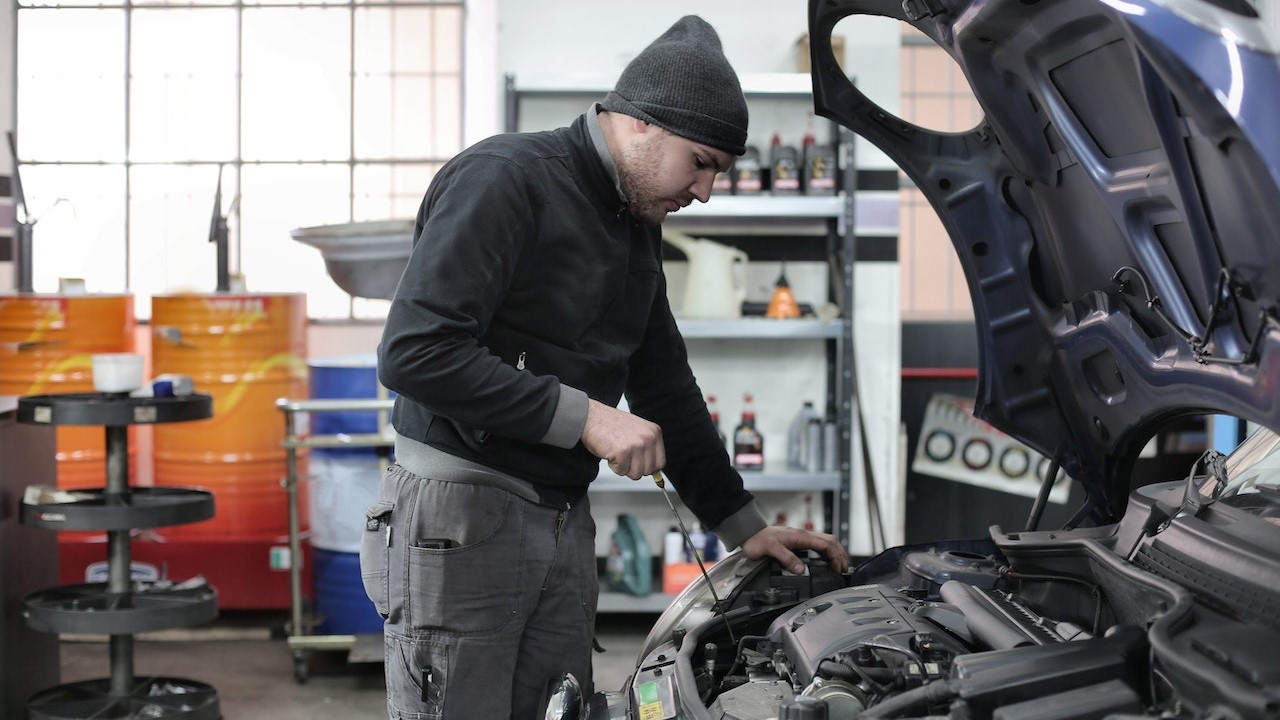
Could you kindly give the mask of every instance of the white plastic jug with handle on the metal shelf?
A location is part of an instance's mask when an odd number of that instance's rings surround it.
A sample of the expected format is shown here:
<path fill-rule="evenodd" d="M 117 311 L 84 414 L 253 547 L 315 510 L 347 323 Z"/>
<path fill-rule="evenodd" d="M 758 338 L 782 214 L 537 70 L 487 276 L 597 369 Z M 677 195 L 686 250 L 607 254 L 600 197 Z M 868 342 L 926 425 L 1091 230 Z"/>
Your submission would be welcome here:
<path fill-rule="evenodd" d="M 662 231 L 662 240 L 689 258 L 682 318 L 724 320 L 742 316 L 746 252 L 667 228 Z"/>

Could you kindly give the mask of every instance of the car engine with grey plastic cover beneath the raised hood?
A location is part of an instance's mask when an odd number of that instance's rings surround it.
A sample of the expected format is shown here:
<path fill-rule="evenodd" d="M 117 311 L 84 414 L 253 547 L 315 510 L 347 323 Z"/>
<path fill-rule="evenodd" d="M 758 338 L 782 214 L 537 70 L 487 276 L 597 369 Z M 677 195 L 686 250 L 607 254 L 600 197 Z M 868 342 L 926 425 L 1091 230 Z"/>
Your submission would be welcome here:
<path fill-rule="evenodd" d="M 1142 708 L 1132 689 L 1146 662 L 1140 629 L 1097 635 L 1074 620 L 1046 618 L 998 589 L 1006 583 L 991 556 L 922 551 L 905 559 L 909 568 L 942 571 L 938 578 L 948 564 L 964 579 L 945 579 L 937 600 L 923 588 L 849 587 L 800 602 L 763 635 L 741 638 L 712 716 L 765 720 L 778 717 L 780 706 L 814 698 L 829 717 L 946 714 L 956 701 L 973 716 L 1001 707 L 1002 716 L 1019 717 L 1016 702 L 1025 698 L 1034 701 L 1025 716 L 1039 717 L 1044 696 L 1085 687 L 1094 710 Z M 704 667 L 713 667 L 707 660 L 718 652 L 703 652 Z"/>

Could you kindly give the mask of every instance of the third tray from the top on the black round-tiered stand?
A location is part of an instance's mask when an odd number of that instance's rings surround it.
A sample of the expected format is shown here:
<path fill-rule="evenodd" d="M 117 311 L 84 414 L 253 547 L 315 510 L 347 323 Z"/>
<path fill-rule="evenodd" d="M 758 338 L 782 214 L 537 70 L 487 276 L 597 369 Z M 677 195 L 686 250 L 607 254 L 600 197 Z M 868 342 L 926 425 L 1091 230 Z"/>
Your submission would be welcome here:
<path fill-rule="evenodd" d="M 61 585 L 31 593 L 23 601 L 27 625 L 44 633 L 101 633 L 131 635 L 207 623 L 218 616 L 218 591 L 207 584 L 192 588 L 150 588 L 109 593 L 106 583 Z"/>

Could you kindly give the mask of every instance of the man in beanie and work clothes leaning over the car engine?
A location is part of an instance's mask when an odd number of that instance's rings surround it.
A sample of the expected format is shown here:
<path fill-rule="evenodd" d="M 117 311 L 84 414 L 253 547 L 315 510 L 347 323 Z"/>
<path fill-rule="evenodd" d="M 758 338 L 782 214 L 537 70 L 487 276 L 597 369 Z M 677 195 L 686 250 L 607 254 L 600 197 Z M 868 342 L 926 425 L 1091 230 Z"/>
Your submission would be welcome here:
<path fill-rule="evenodd" d="M 767 525 L 667 305 L 659 224 L 707 202 L 746 122 L 719 37 L 686 17 L 570 127 L 488 138 L 433 181 L 379 346 L 397 465 L 361 548 L 392 719 L 531 720 L 548 679 L 591 687 L 600 459 L 663 470 L 751 557 L 847 566 L 835 537 Z"/>

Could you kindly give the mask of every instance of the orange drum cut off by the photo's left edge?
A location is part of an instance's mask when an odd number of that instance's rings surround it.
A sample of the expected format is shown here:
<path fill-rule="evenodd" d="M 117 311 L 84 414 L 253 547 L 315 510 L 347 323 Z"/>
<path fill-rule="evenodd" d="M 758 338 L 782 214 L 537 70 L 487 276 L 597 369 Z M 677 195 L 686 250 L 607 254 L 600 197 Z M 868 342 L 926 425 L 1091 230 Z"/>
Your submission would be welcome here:
<path fill-rule="evenodd" d="M 0 395 L 93 392 L 92 356 L 134 352 L 132 295 L 0 295 Z M 105 430 L 56 428 L 58 487 L 106 484 Z M 136 428 L 129 475 L 136 477 Z"/>

